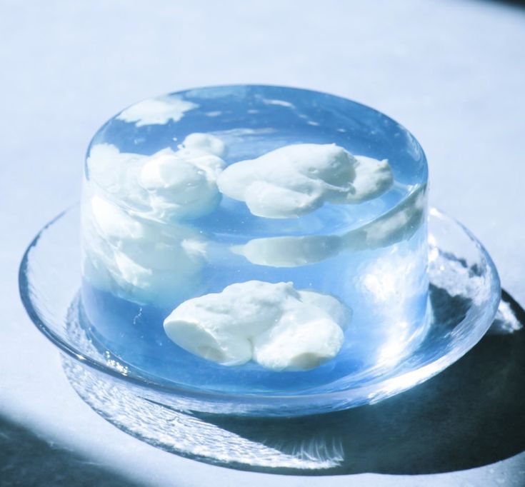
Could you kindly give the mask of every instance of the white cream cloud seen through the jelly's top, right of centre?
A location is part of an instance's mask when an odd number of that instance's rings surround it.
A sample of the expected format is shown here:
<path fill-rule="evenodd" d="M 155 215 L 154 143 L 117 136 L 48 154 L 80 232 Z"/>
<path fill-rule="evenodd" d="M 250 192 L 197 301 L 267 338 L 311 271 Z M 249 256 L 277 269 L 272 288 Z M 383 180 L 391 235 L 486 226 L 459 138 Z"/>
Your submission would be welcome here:
<path fill-rule="evenodd" d="M 356 204 L 393 183 L 388 161 L 356 157 L 336 144 L 294 144 L 227 167 L 219 190 L 245 201 L 252 214 L 286 219 L 311 213 L 325 202 Z"/>

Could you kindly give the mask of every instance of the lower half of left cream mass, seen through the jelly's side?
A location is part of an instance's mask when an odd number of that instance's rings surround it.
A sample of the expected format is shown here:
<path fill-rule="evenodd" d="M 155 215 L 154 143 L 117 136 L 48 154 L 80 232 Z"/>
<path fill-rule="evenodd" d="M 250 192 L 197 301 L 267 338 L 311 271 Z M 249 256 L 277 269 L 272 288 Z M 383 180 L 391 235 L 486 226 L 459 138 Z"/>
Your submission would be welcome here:
<path fill-rule="evenodd" d="M 136 303 L 173 306 L 199 288 L 206 239 L 127 214 L 100 196 L 83 209 L 84 277 Z"/>

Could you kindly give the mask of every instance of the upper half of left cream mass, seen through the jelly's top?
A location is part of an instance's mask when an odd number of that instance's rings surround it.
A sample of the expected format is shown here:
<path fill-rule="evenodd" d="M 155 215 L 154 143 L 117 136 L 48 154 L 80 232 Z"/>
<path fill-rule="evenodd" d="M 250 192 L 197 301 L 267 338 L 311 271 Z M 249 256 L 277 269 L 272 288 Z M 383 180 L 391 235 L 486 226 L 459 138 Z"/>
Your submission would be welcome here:
<path fill-rule="evenodd" d="M 214 211 L 221 201 L 216 179 L 225 166 L 221 156 L 226 147 L 218 137 L 196 133 L 177 149 L 144 156 L 96 144 L 87 161 L 89 176 L 146 217 L 196 219 Z"/>

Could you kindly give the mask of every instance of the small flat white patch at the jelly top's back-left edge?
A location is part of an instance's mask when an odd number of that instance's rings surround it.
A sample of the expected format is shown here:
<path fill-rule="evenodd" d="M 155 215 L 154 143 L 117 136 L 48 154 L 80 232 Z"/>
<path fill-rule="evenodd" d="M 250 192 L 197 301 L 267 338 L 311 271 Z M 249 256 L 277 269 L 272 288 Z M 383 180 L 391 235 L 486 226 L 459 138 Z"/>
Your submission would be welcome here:
<path fill-rule="evenodd" d="M 198 108 L 199 105 L 183 100 L 180 96 L 166 95 L 139 101 L 121 111 L 116 119 L 134 123 L 137 127 L 145 125 L 164 125 L 170 120 L 179 121 L 186 111 Z"/>

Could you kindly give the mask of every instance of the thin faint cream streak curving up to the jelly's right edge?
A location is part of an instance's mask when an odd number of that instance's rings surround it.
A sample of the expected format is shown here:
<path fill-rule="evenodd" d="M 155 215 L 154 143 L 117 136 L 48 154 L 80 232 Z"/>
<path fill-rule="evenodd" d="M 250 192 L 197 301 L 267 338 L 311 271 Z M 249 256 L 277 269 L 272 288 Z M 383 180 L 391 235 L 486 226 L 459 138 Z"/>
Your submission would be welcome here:
<path fill-rule="evenodd" d="M 373 250 L 408 240 L 426 215 L 426 188 L 421 187 L 402 204 L 359 229 L 342 236 L 282 236 L 253 239 L 231 251 L 260 266 L 296 267 L 324 261 L 342 251 Z"/>

